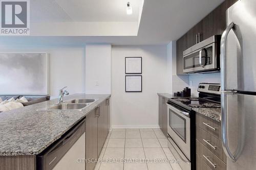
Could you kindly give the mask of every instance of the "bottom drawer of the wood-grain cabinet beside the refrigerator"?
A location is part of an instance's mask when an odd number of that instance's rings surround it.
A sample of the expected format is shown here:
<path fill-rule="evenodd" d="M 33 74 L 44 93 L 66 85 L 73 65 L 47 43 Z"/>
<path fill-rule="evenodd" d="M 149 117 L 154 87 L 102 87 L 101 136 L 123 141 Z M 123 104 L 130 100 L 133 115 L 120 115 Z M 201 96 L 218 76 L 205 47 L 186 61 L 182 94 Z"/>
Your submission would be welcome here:
<path fill-rule="evenodd" d="M 197 154 L 200 159 L 202 159 L 202 162 L 206 163 L 208 167 L 210 167 L 210 169 L 226 170 L 226 164 L 221 159 L 219 159 L 215 154 L 213 154 L 206 147 L 204 147 L 204 145 L 200 141 L 196 140 L 196 142 Z M 204 166 L 203 163 L 200 163 L 200 165 L 201 167 Z"/>

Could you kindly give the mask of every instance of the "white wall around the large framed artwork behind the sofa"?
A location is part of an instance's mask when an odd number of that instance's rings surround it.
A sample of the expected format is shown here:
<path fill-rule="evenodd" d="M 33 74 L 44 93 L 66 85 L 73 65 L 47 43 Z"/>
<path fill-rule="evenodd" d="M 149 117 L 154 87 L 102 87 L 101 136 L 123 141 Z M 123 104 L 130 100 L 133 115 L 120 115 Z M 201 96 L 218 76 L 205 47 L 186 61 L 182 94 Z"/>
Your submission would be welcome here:
<path fill-rule="evenodd" d="M 51 95 L 51 99 L 57 98 L 58 90 L 63 86 L 68 86 L 67 90 L 70 92 L 70 94 L 84 93 L 85 91 L 84 46 L 14 46 L 12 44 L 0 42 L 0 52 L 48 53 L 50 57 L 49 94 Z"/>

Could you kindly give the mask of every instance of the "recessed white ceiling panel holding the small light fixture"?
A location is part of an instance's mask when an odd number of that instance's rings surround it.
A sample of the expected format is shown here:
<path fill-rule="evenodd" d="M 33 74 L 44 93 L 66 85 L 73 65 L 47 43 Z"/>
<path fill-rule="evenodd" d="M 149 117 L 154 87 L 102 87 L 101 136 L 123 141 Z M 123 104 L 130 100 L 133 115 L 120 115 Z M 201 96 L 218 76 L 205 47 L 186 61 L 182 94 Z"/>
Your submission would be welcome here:
<path fill-rule="evenodd" d="M 131 22 L 138 21 L 141 0 L 129 0 L 133 14 L 126 14 L 127 0 L 33 0 L 31 22 Z"/>

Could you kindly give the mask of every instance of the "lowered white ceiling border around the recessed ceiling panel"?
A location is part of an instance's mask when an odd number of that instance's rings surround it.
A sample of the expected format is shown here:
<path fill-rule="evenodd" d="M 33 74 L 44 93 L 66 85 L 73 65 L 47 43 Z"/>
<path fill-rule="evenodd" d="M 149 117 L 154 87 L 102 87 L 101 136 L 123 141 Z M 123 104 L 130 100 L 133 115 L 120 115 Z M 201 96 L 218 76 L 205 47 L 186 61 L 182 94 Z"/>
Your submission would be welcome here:
<path fill-rule="evenodd" d="M 93 0 L 84 1 L 94 2 Z M 95 1 L 101 3 L 109 2 L 109 4 L 112 4 L 112 1 L 114 2 L 115 0 Z M 0 43 L 48 43 L 67 45 L 86 43 L 111 43 L 114 45 L 165 44 L 169 41 L 177 40 L 223 1 L 224 0 L 145 0 L 137 36 L 1 37 L 2 40 L 0 40 Z M 64 8 L 65 5 L 61 6 Z M 93 9 L 91 10 L 93 11 Z M 67 12 L 67 10 L 66 13 L 69 13 L 69 16 L 72 16 L 71 18 L 75 16 L 75 14 L 71 15 L 71 12 Z M 105 17 L 101 17 L 101 15 L 97 15 L 91 19 L 95 20 L 99 18 L 102 20 L 106 19 Z M 113 15 L 111 18 L 118 19 L 119 17 L 115 18 Z M 80 17 L 80 19 L 82 18 Z"/>

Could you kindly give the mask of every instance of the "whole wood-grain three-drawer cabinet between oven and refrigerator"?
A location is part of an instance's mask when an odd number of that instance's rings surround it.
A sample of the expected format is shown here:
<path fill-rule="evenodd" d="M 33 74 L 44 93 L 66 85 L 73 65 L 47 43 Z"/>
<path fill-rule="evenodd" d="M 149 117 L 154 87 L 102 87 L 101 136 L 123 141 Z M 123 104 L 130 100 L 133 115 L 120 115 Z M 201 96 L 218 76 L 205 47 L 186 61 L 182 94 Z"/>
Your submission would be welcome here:
<path fill-rule="evenodd" d="M 227 157 L 222 149 L 221 138 L 218 138 L 220 131 L 220 122 L 196 113 L 196 165 L 198 170 L 226 169 Z"/>

